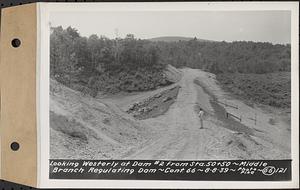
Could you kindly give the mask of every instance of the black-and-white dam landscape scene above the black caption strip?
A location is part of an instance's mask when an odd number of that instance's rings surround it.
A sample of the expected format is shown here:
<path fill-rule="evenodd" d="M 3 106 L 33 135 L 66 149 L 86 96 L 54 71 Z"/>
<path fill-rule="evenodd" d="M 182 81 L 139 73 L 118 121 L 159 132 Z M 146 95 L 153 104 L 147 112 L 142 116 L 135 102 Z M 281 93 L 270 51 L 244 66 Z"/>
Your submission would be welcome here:
<path fill-rule="evenodd" d="M 290 159 L 290 11 L 50 15 L 52 159 Z"/>

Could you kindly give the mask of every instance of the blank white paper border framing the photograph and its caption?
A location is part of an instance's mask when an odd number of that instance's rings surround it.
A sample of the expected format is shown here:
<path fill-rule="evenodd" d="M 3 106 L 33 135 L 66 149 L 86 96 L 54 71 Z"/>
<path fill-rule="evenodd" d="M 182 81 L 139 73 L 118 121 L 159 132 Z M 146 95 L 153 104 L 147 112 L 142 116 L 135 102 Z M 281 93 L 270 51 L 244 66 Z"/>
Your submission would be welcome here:
<path fill-rule="evenodd" d="M 101 5 L 101 6 L 100 6 Z M 299 7 L 297 2 L 143 2 L 38 3 L 37 123 L 38 187 L 42 188 L 295 188 L 299 186 Z M 292 181 L 165 181 L 165 180 L 53 180 L 49 179 L 49 64 L 51 12 L 67 11 L 291 11 L 291 156 Z"/>

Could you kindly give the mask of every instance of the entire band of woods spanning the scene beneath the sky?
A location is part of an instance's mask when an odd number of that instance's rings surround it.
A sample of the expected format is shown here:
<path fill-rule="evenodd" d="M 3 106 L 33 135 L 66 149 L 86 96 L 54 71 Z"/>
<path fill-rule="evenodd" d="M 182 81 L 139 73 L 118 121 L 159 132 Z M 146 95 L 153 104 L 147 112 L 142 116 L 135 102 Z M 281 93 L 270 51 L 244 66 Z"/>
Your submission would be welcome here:
<path fill-rule="evenodd" d="M 83 37 L 71 27 L 52 28 L 50 38 L 51 78 L 93 96 L 100 91 L 145 91 L 171 84 L 164 73 L 169 64 L 223 74 L 217 79 L 231 81 L 227 74 L 266 74 L 291 69 L 289 44 L 228 43 L 196 38 L 164 42 L 136 39 L 133 34 L 123 39 Z"/>

